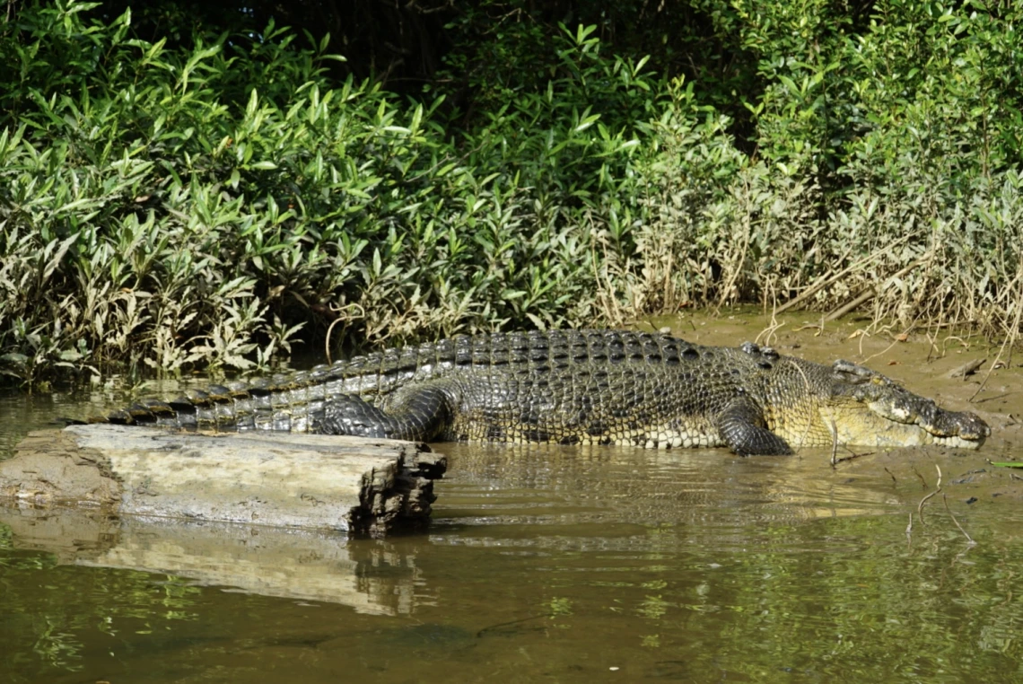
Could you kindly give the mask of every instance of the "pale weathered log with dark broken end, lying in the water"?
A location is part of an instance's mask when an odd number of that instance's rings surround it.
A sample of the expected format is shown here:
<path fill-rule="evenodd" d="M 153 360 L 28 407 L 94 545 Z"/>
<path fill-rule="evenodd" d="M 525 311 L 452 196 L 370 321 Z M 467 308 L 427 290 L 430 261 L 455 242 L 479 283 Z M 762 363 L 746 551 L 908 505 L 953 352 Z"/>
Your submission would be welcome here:
<path fill-rule="evenodd" d="M 0 462 L 0 498 L 381 537 L 428 521 L 446 465 L 407 441 L 75 425 L 33 432 Z"/>

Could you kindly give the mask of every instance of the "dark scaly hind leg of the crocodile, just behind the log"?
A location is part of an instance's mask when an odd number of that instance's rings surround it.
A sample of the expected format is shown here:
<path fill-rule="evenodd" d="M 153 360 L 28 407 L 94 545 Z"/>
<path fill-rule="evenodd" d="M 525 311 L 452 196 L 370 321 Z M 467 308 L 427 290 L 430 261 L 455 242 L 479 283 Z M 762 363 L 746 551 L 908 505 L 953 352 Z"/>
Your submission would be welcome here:
<path fill-rule="evenodd" d="M 439 387 L 408 388 L 386 409 L 360 396 L 343 394 L 331 398 L 326 415 L 314 430 L 322 434 L 430 441 L 443 434 L 451 414 L 450 397 Z"/>

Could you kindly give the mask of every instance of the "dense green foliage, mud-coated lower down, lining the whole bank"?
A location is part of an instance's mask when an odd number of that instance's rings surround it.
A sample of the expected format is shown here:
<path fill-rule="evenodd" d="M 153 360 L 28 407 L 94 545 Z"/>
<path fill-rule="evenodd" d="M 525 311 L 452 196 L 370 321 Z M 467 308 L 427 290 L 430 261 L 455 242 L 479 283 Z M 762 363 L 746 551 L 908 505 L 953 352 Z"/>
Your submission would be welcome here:
<path fill-rule="evenodd" d="M 272 20 L 158 37 L 150 14 L 143 37 L 131 10 L 20 6 L 0 373 L 796 297 L 1015 338 L 1023 9 L 685 6 L 691 33 L 632 37 L 474 5 L 400 93 Z"/>

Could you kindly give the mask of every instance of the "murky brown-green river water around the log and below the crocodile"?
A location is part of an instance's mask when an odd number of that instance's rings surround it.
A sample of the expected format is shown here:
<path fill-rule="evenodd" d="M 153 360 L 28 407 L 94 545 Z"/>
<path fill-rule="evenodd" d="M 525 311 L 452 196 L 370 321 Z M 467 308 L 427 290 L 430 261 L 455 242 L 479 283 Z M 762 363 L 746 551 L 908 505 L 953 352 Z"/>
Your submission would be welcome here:
<path fill-rule="evenodd" d="M 118 400 L 0 398 L 0 450 Z M 437 445 L 432 527 L 386 542 L 8 513 L 0 681 L 1023 681 L 1017 444 Z"/>

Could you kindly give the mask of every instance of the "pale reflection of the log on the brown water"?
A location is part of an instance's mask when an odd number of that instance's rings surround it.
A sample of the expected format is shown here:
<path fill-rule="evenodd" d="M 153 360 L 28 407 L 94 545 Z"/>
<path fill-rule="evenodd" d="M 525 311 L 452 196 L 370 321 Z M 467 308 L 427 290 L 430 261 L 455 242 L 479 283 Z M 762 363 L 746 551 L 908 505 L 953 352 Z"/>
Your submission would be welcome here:
<path fill-rule="evenodd" d="M 0 509 L 10 544 L 53 554 L 59 564 L 166 572 L 193 586 L 325 601 L 358 612 L 410 613 L 421 584 L 414 557 L 385 543 L 210 522 L 87 512 Z"/>

